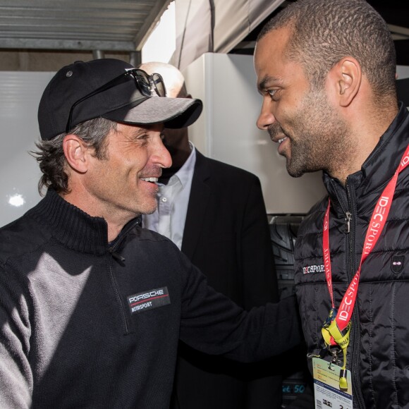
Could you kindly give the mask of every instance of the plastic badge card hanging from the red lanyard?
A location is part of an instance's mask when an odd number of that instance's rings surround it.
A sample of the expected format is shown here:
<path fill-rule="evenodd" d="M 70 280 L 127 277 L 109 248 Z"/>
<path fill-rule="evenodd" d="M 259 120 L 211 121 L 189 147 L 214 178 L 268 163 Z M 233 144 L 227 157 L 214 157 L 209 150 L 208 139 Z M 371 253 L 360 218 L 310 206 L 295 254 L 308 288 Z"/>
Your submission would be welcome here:
<path fill-rule="evenodd" d="M 320 358 L 312 358 L 314 371 L 315 409 L 353 409 L 350 371 L 347 372 L 348 390 L 339 389 L 341 367 Z"/>

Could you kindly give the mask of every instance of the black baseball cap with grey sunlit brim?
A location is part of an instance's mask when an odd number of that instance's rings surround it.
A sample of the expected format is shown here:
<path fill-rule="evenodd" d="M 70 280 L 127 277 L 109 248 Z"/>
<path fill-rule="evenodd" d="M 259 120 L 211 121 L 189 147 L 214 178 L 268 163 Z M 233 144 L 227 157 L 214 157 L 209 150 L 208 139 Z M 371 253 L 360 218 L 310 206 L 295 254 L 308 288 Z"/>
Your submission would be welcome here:
<path fill-rule="evenodd" d="M 67 123 L 73 128 L 99 117 L 133 125 L 164 123 L 166 128 L 185 128 L 199 118 L 200 99 L 147 95 L 142 93 L 132 75 L 124 75 L 118 85 L 92 94 L 133 69 L 132 65 L 118 59 L 77 61 L 61 68 L 39 102 L 41 138 L 51 140 L 67 131 Z M 92 96 L 87 97 L 89 94 Z"/>

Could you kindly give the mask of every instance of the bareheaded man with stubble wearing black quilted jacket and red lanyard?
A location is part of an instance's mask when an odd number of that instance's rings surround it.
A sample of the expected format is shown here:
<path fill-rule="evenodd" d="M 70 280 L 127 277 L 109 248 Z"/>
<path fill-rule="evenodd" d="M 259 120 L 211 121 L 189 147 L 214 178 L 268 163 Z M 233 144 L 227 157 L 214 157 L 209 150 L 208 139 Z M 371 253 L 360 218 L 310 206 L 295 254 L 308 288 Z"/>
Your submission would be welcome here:
<path fill-rule="evenodd" d="M 295 1 L 255 48 L 259 128 L 291 176 L 322 170 L 328 190 L 295 245 L 317 407 L 409 407 L 409 113 L 395 54 L 363 0 Z"/>

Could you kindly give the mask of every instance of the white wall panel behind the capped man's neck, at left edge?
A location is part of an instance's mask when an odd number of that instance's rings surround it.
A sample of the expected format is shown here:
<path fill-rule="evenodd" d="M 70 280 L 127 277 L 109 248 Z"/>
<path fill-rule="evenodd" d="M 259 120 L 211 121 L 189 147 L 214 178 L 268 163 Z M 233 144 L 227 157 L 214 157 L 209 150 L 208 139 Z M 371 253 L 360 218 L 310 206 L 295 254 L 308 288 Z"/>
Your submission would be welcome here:
<path fill-rule="evenodd" d="M 0 72 L 0 226 L 41 199 L 39 166 L 28 152 L 39 140 L 37 108 L 54 73 Z"/>

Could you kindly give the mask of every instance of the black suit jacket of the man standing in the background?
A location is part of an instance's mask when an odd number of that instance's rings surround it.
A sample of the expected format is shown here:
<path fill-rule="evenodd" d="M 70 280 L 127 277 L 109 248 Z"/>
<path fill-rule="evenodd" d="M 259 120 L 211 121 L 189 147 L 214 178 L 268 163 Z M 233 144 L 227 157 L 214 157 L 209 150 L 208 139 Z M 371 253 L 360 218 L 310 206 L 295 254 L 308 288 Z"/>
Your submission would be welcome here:
<path fill-rule="evenodd" d="M 246 310 L 278 300 L 267 213 L 252 173 L 196 151 L 181 250 Z M 281 381 L 271 374 L 274 361 L 244 365 L 181 343 L 171 407 L 280 408 Z"/>

